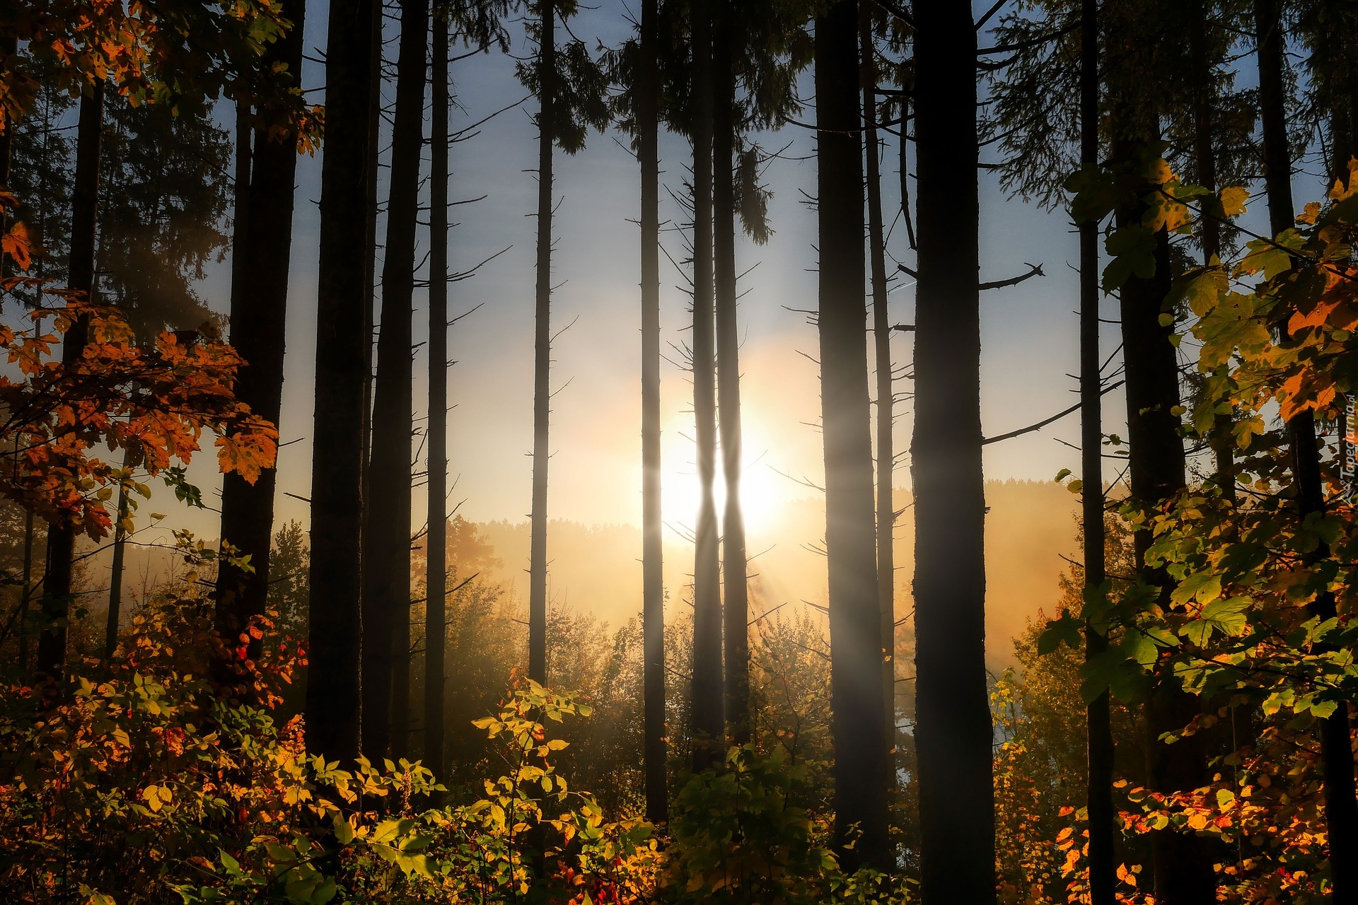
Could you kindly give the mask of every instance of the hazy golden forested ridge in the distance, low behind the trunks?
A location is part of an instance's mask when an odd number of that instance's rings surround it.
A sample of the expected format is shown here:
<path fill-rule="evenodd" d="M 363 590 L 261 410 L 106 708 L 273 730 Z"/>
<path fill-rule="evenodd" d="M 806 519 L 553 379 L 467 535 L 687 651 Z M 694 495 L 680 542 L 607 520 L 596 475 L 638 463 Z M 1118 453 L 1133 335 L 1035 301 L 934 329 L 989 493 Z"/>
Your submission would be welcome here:
<path fill-rule="evenodd" d="M 896 488 L 895 505 L 904 510 L 896 522 L 896 619 L 910 613 L 910 577 L 914 574 L 914 514 L 910 491 Z M 1076 556 L 1076 514 L 1078 497 L 1062 484 L 1038 480 L 991 480 L 986 483 L 986 654 L 991 669 L 1016 663 L 1012 640 L 1039 611 L 1052 615 L 1061 596 L 1058 578 Z M 674 516 L 674 517 L 671 517 Z M 774 529 L 750 532 L 751 616 L 775 606 L 824 606 L 826 558 L 824 506 L 818 498 L 788 502 Z M 665 516 L 665 590 L 669 617 L 689 611 L 675 606 L 691 602 L 693 544 L 680 536 L 684 524 L 679 513 Z M 526 605 L 528 598 L 527 521 L 466 522 L 475 528 L 474 539 L 463 529 L 449 531 L 448 564 L 458 581 L 478 573 L 505 585 L 512 597 Z M 636 525 L 585 525 L 570 520 L 549 522 L 549 593 L 553 606 L 591 613 L 612 628 L 641 613 L 641 529 Z M 758 554 L 758 555 L 756 555 Z M 422 541 L 413 552 L 424 559 Z M 129 548 L 124 593 L 139 600 L 147 589 L 163 582 L 172 567 L 172 555 L 162 548 Z M 422 562 L 416 571 L 422 577 Z M 106 588 L 109 555 L 92 559 L 91 586 Z M 803 602 L 807 601 L 807 602 Z M 909 630 L 909 620 L 903 628 Z"/>

